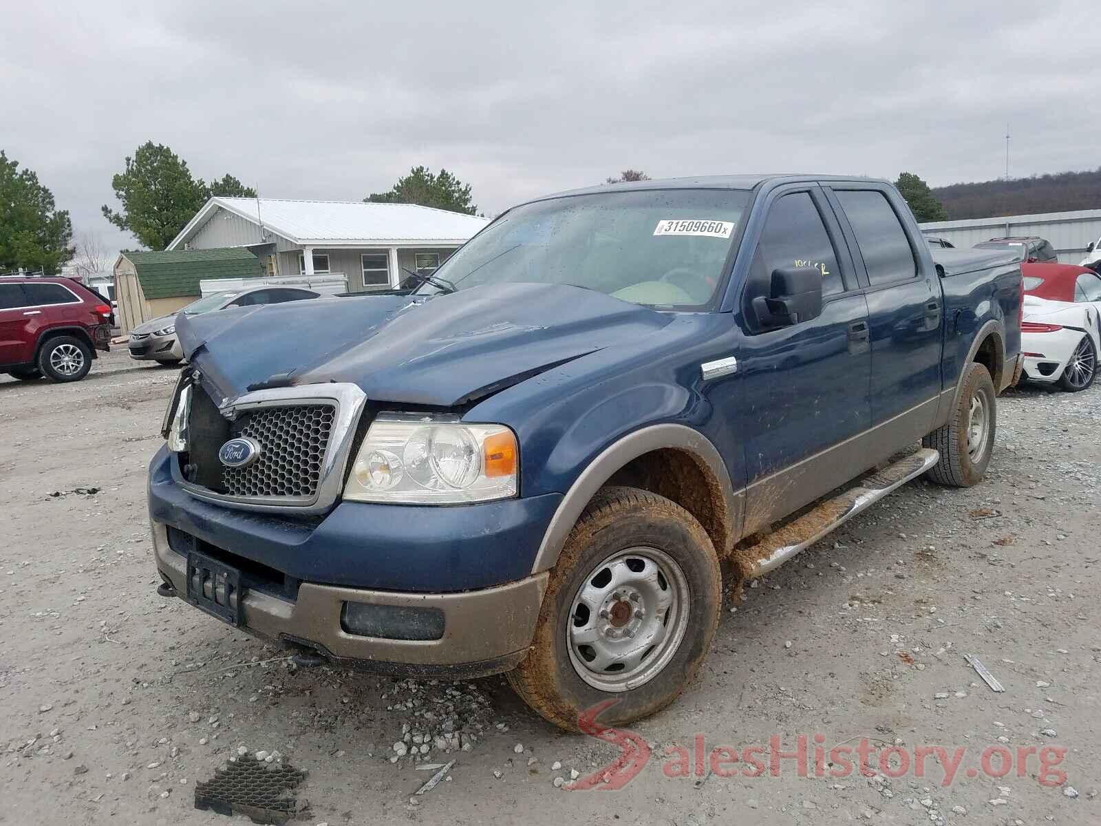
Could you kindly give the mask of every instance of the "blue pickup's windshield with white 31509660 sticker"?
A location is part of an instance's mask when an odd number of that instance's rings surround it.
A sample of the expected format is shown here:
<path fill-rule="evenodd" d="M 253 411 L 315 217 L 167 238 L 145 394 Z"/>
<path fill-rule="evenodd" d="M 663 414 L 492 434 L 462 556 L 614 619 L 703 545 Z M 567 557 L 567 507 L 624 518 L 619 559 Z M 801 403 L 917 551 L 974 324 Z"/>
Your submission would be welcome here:
<path fill-rule="evenodd" d="M 634 189 L 525 204 L 472 238 L 417 293 L 531 282 L 702 307 L 749 200 L 743 189 Z"/>

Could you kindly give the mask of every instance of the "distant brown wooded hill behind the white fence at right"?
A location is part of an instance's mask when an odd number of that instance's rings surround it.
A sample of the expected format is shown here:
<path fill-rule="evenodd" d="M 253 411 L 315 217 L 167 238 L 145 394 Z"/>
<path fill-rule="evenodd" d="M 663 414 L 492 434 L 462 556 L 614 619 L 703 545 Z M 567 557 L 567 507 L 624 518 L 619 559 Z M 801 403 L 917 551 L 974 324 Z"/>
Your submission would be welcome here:
<path fill-rule="evenodd" d="M 1101 209 L 1101 169 L 1012 181 L 952 184 L 937 187 L 933 194 L 945 205 L 949 220 Z"/>

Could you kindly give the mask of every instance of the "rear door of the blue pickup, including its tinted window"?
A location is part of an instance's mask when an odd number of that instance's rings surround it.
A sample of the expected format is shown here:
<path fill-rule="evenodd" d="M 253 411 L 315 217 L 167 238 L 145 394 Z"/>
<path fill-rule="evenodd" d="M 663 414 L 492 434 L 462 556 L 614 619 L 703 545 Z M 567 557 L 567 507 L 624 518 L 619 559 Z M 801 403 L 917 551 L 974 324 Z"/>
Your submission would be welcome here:
<path fill-rule="evenodd" d="M 918 254 L 920 237 L 903 220 L 907 207 L 893 188 L 864 183 L 828 188 L 866 285 L 872 425 L 884 425 L 885 438 L 905 445 L 931 431 L 936 421 L 940 284 L 931 260 Z"/>

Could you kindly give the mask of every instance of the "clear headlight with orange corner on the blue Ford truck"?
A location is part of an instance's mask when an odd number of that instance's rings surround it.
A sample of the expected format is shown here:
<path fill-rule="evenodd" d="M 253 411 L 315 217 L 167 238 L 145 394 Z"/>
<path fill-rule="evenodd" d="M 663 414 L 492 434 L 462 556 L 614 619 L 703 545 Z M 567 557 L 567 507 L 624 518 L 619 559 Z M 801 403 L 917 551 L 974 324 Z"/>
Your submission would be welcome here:
<path fill-rule="evenodd" d="M 382 414 L 356 456 L 345 499 L 454 504 L 516 496 L 516 437 L 500 424 Z"/>

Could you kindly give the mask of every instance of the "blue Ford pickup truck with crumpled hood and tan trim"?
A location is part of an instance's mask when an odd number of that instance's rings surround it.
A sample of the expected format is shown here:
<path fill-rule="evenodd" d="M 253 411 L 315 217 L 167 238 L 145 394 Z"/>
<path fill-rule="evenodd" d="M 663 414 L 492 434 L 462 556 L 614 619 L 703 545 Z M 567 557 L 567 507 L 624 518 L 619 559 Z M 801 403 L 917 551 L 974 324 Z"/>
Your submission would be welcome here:
<path fill-rule="evenodd" d="M 177 320 L 159 590 L 304 661 L 508 672 L 567 729 L 677 696 L 720 563 L 981 481 L 1020 369 L 1020 264 L 935 261 L 882 181 L 552 195 L 418 280 Z"/>

